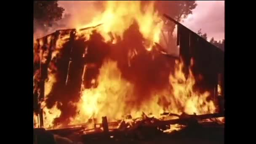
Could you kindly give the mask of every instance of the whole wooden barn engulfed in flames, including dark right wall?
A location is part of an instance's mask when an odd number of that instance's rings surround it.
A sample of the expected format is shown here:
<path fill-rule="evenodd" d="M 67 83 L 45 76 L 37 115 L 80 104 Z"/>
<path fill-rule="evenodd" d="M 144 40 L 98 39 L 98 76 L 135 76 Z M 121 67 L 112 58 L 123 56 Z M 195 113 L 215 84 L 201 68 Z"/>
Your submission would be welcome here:
<path fill-rule="evenodd" d="M 150 6 L 127 13 L 35 40 L 34 128 L 88 139 L 223 121 L 224 52 Z"/>

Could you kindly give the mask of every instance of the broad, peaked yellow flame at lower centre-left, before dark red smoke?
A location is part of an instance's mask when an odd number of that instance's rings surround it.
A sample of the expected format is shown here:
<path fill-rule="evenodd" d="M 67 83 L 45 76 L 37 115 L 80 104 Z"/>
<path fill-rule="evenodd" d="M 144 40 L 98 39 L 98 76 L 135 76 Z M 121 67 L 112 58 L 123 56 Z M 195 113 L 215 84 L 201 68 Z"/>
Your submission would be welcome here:
<path fill-rule="evenodd" d="M 112 61 L 101 67 L 98 81 L 100 83 L 97 88 L 85 89 L 82 92 L 81 100 L 77 104 L 79 115 L 71 124 L 85 123 L 91 117 L 101 120 L 102 116 L 122 116 L 125 109 L 125 101 L 122 100 L 132 92 L 133 85 L 121 79 L 117 63 Z"/>

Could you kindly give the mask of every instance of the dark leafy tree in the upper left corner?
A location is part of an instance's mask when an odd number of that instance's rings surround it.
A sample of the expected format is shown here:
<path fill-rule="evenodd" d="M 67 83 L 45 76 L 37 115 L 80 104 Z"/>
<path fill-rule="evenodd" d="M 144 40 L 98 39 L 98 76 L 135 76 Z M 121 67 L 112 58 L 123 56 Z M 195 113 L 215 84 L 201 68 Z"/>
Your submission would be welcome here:
<path fill-rule="evenodd" d="M 34 30 L 35 27 L 47 29 L 62 18 L 64 8 L 59 7 L 57 0 L 34 1 Z"/>

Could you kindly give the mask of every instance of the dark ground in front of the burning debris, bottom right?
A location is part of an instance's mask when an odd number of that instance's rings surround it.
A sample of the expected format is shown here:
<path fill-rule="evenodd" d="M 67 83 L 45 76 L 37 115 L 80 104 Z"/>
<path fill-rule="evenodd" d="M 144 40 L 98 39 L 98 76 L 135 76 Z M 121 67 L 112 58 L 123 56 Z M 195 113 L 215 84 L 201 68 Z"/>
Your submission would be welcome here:
<path fill-rule="evenodd" d="M 88 140 L 88 139 L 87 139 Z M 172 134 L 153 134 L 112 139 L 85 140 L 86 144 L 224 144 L 224 125 L 186 128 Z"/>

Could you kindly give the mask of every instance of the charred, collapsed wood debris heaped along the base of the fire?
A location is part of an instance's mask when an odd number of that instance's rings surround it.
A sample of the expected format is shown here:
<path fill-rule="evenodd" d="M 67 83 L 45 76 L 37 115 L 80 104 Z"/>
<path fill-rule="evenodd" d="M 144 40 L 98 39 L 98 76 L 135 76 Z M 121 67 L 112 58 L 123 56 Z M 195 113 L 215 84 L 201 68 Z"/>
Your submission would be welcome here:
<path fill-rule="evenodd" d="M 144 113 L 141 115 L 141 119 L 131 119 L 131 117 L 126 117 L 128 119 L 124 119 L 121 122 L 115 122 L 119 123 L 119 126 L 117 128 L 109 128 L 110 125 L 113 125 L 115 123 L 107 123 L 106 119 L 107 117 L 102 117 L 102 124 L 96 124 L 99 125 L 97 128 L 92 129 L 86 128 L 86 126 L 79 126 L 77 128 L 65 128 L 65 129 L 55 129 L 55 130 L 48 130 L 47 132 L 54 133 L 54 138 L 56 141 L 56 138 L 59 138 L 59 140 L 67 140 L 70 141 L 67 138 L 60 137 L 60 136 L 69 136 L 69 135 L 77 135 L 81 137 L 82 141 L 90 141 L 93 140 L 95 142 L 96 139 L 102 139 L 104 140 L 111 140 L 112 138 L 118 139 L 133 139 L 133 137 L 136 139 L 150 139 L 152 137 L 152 134 L 154 136 L 161 135 L 161 133 L 167 133 L 169 131 L 175 130 L 181 130 L 185 127 L 198 127 L 196 120 L 199 119 L 205 119 L 205 118 L 211 118 L 211 117 L 222 117 L 221 114 L 207 114 L 207 115 L 187 115 L 182 114 L 179 115 L 179 119 L 175 120 L 158 120 L 154 117 L 148 117 Z M 179 124 L 178 124 L 179 123 Z M 181 124 L 185 124 L 186 126 L 183 126 Z M 105 127 L 105 128 L 103 128 Z M 101 129 L 103 128 L 103 129 Z M 197 129 L 198 129 L 197 128 Z M 41 132 L 40 132 L 41 131 Z M 35 130 L 35 135 L 38 133 L 42 133 L 43 131 L 38 129 Z M 47 133 L 46 131 L 44 133 Z M 83 140 L 84 139 L 84 140 Z"/>

